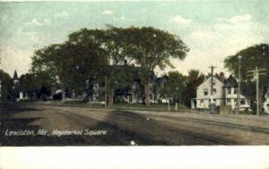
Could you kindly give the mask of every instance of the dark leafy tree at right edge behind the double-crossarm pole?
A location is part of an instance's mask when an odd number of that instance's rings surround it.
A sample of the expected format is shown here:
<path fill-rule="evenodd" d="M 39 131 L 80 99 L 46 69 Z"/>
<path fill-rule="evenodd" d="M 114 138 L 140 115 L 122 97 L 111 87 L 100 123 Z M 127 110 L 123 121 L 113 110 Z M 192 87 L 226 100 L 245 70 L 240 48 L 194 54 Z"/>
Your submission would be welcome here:
<path fill-rule="evenodd" d="M 224 60 L 225 67 L 228 68 L 230 72 L 233 72 L 236 77 L 238 77 L 239 72 L 239 59 L 238 56 L 241 55 L 241 79 L 242 79 L 242 93 L 248 97 L 255 98 L 256 92 L 253 92 L 253 74 L 248 73 L 248 71 L 255 70 L 256 66 L 259 69 L 265 69 L 266 75 L 260 76 L 259 79 L 259 100 L 265 99 L 265 91 L 269 88 L 269 45 L 259 44 L 255 46 L 249 46 L 242 49 L 235 55 L 230 55 Z M 262 107 L 263 101 L 260 102 L 260 107 Z"/>

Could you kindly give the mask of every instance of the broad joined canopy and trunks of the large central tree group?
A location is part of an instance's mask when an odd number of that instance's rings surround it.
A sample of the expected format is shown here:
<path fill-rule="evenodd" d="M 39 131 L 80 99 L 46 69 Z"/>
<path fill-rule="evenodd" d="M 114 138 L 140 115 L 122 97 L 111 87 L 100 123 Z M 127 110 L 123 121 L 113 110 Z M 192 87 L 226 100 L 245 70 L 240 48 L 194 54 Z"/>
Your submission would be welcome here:
<path fill-rule="evenodd" d="M 130 85 L 128 73 L 119 73 L 117 65 L 134 63 L 139 67 L 145 103 L 149 104 L 154 70 L 173 67 L 171 59 L 184 59 L 188 48 L 176 35 L 152 27 L 106 30 L 82 29 L 71 33 L 65 43 L 45 46 L 32 57 L 31 72 L 48 72 L 61 89 L 85 89 L 85 81 L 96 77 L 108 80 L 108 100 L 117 86 Z M 108 66 L 108 65 L 115 65 Z M 129 71 L 130 72 L 130 71 Z M 117 85 L 115 85 L 117 81 Z M 111 90 L 111 91 L 110 91 Z"/>

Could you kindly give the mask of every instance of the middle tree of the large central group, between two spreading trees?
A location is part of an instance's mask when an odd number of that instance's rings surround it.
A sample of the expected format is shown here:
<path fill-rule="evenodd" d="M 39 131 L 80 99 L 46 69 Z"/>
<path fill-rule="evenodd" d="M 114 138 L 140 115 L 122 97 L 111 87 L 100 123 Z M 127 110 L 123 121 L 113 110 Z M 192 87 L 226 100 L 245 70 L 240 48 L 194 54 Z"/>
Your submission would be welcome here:
<path fill-rule="evenodd" d="M 109 27 L 110 28 L 110 27 Z M 69 35 L 70 43 L 77 46 L 89 47 L 87 44 L 93 44 L 95 48 L 100 48 L 99 55 L 105 56 L 111 65 L 101 63 L 93 63 L 91 67 L 99 68 L 98 72 L 91 73 L 90 79 L 95 77 L 94 80 L 104 82 L 106 79 L 106 86 L 108 87 L 108 106 L 113 105 L 114 91 L 117 86 L 126 87 L 130 85 L 130 78 L 127 78 L 129 71 L 126 66 L 123 69 L 118 64 L 124 63 L 124 54 L 121 52 L 122 48 L 119 45 L 121 38 L 117 37 L 117 32 L 108 30 L 87 30 L 82 29 Z"/>

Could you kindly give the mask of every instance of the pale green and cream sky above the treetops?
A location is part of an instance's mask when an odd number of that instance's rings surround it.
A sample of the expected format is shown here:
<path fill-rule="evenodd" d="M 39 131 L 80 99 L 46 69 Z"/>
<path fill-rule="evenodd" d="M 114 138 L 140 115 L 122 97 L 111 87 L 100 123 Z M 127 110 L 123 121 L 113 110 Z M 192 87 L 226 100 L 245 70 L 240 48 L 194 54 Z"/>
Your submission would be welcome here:
<path fill-rule="evenodd" d="M 0 3 L 0 69 L 30 69 L 34 51 L 87 29 L 154 27 L 178 35 L 190 48 L 175 70 L 227 72 L 223 60 L 247 46 L 269 43 L 268 0 L 86 1 Z M 243 62 L 243 61 L 242 61 Z M 165 72 L 171 69 L 165 70 Z M 160 72 L 157 70 L 158 74 Z"/>

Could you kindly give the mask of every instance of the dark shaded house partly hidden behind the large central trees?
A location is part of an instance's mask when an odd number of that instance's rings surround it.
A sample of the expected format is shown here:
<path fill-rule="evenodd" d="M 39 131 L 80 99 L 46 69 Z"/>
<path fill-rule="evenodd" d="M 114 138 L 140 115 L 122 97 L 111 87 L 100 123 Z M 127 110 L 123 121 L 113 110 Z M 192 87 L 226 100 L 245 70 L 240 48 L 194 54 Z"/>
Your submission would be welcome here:
<path fill-rule="evenodd" d="M 143 84 L 139 76 L 139 67 L 134 64 L 127 65 L 126 62 L 122 65 L 110 65 L 111 70 L 115 71 L 117 78 L 108 81 L 114 88 L 114 100 L 116 102 L 125 103 L 143 103 L 144 92 Z M 108 68 L 109 69 L 109 68 Z M 114 73 L 115 73 L 114 72 Z M 158 102 L 158 92 L 156 89 L 157 77 L 152 72 L 150 79 L 150 103 Z M 90 102 L 100 103 L 103 102 L 105 97 L 105 82 L 92 82 L 92 93 Z"/>

